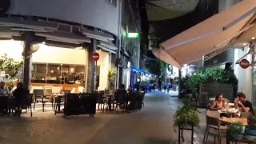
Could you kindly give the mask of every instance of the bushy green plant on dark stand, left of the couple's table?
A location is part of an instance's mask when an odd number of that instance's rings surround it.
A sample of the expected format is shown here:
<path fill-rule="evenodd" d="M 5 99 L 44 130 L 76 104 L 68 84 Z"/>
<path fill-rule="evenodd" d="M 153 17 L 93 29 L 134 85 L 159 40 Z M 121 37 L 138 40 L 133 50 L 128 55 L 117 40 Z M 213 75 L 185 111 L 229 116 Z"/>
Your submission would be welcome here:
<path fill-rule="evenodd" d="M 199 126 L 199 114 L 198 110 L 191 106 L 190 102 L 184 102 L 184 106 L 179 107 L 174 114 L 174 131 L 175 127 L 184 127 L 184 126 Z"/>

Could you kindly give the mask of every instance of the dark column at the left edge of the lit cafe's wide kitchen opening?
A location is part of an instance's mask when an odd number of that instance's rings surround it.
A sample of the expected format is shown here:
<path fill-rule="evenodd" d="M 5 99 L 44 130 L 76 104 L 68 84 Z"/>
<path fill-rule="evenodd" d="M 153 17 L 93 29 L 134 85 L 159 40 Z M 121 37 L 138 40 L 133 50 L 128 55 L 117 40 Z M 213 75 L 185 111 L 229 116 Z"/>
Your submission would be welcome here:
<path fill-rule="evenodd" d="M 31 46 L 34 41 L 33 32 L 24 32 L 23 38 L 25 41 L 24 50 L 23 50 L 23 73 L 22 73 L 22 82 L 25 90 L 30 90 L 30 80 L 31 80 Z"/>

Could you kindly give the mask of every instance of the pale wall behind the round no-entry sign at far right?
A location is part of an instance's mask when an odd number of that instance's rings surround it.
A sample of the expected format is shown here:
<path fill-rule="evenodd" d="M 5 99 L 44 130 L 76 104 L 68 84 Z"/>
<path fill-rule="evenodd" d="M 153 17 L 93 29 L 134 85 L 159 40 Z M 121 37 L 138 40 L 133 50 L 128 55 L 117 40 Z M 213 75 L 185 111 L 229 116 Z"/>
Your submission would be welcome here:
<path fill-rule="evenodd" d="M 239 58 L 242 58 L 249 51 L 248 47 L 242 49 L 234 50 L 234 74 L 236 74 L 238 78 L 238 91 L 242 91 L 246 94 L 246 98 L 251 102 L 253 97 L 253 89 L 252 89 L 252 70 L 250 68 L 242 69 L 241 66 L 235 64 Z M 245 57 L 249 62 L 251 62 L 252 57 L 248 55 Z"/>

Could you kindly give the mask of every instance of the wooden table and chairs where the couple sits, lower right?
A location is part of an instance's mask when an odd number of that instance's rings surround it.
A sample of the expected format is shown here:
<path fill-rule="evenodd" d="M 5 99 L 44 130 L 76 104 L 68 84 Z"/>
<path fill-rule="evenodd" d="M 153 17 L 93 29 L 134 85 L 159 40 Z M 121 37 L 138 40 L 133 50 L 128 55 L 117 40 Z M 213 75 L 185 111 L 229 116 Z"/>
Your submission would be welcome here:
<path fill-rule="evenodd" d="M 214 136 L 214 143 L 221 143 L 222 138 L 226 138 L 226 143 L 230 142 L 246 142 L 256 143 L 256 137 L 254 135 L 242 134 L 242 139 L 234 140 L 227 134 L 227 128 L 234 122 L 241 122 L 244 127 L 248 126 L 248 118 L 250 112 L 241 112 L 239 109 L 234 108 L 234 103 L 228 103 L 225 109 L 222 110 L 210 110 L 206 109 L 206 130 L 203 141 L 208 142 L 209 136 Z"/>

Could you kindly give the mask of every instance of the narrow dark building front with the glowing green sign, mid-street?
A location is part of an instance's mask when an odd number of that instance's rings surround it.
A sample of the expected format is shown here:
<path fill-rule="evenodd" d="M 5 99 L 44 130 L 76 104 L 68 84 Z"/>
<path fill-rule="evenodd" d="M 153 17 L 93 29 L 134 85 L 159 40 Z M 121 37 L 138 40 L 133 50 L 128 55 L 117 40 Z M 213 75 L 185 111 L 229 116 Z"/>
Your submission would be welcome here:
<path fill-rule="evenodd" d="M 118 85 L 124 84 L 126 88 L 134 86 L 138 78 L 138 73 L 133 68 L 140 67 L 141 25 L 138 1 L 122 1 Z M 130 38 L 129 34 L 138 34 L 138 37 Z"/>

